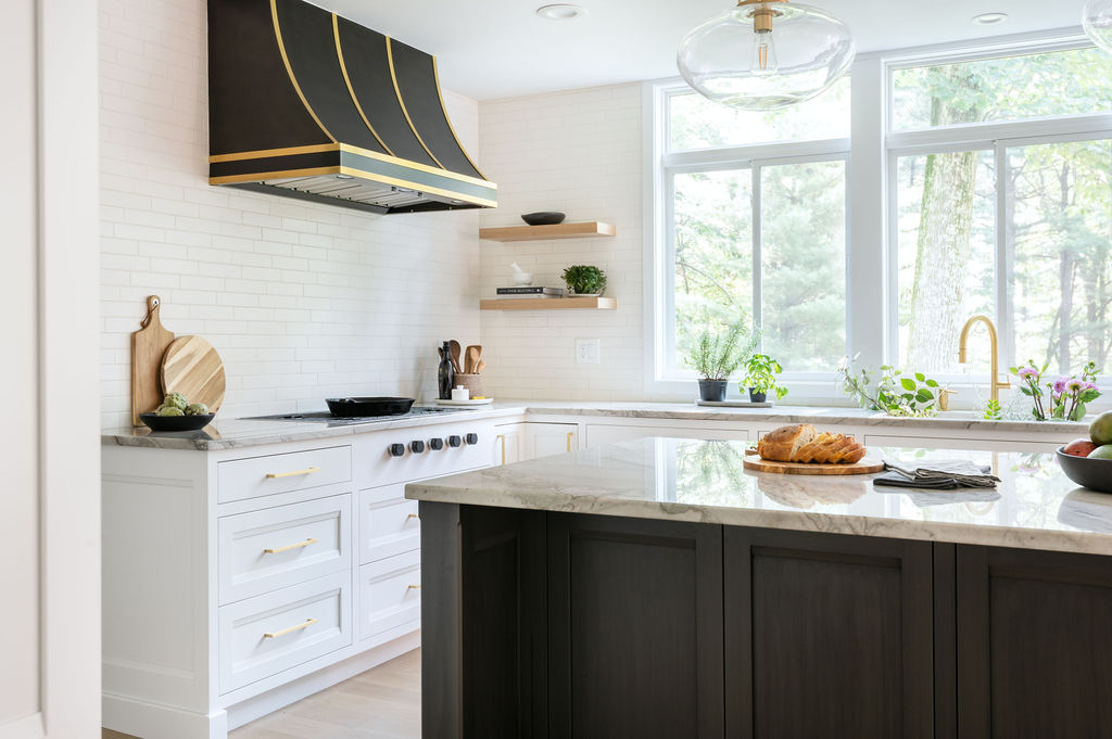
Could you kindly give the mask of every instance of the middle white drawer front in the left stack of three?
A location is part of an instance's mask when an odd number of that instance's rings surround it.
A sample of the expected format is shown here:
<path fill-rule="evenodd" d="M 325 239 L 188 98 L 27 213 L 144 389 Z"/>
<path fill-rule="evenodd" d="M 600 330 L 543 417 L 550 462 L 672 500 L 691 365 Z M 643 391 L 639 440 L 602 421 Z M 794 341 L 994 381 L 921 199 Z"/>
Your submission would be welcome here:
<path fill-rule="evenodd" d="M 351 496 L 228 516 L 218 523 L 220 603 L 351 567 Z"/>

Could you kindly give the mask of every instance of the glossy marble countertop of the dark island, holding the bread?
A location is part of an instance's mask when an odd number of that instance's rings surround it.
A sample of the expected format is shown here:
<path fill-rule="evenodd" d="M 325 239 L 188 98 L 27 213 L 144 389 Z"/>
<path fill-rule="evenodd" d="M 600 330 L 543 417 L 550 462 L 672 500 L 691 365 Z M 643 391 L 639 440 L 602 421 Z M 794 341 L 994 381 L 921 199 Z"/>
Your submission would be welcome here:
<path fill-rule="evenodd" d="M 999 489 L 910 491 L 875 476 L 743 468 L 745 442 L 651 438 L 406 486 L 449 503 L 1112 555 L 1112 495 L 1071 482 L 1053 453 L 873 448 L 991 465 Z"/>

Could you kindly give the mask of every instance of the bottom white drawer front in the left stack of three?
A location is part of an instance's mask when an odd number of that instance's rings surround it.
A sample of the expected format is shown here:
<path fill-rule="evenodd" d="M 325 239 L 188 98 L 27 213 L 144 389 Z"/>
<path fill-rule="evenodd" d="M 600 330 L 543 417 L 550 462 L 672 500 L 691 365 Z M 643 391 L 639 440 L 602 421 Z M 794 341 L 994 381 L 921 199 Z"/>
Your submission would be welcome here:
<path fill-rule="evenodd" d="M 337 572 L 221 608 L 220 692 L 350 645 L 350 577 Z"/>

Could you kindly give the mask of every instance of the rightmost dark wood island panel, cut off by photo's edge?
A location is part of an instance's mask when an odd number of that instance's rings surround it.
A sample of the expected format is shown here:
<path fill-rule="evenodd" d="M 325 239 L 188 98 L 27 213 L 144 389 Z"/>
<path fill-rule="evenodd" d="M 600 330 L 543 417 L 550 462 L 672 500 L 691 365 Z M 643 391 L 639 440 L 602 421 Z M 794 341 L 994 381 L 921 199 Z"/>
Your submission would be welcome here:
<path fill-rule="evenodd" d="M 1112 558 L 957 547 L 961 739 L 1112 739 Z"/>

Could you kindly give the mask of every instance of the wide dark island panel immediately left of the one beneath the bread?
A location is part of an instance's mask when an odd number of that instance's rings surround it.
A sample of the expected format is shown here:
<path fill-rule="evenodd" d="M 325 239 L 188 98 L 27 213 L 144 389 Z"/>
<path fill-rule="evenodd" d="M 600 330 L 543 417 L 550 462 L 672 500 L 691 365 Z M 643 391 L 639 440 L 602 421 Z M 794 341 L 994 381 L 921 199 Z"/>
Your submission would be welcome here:
<path fill-rule="evenodd" d="M 722 527 L 548 516 L 549 737 L 721 739 Z"/>

